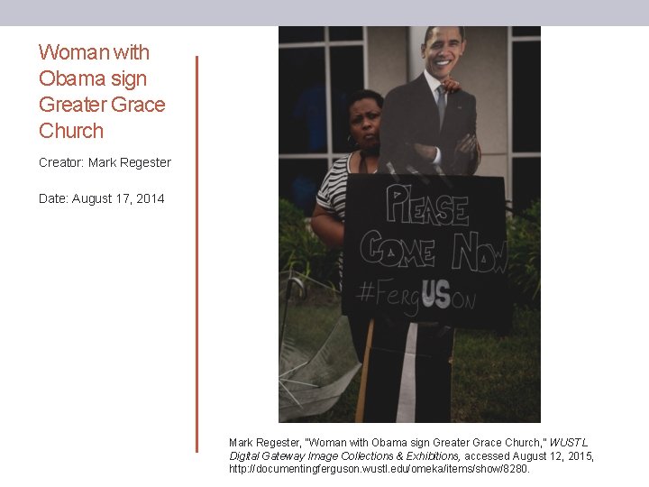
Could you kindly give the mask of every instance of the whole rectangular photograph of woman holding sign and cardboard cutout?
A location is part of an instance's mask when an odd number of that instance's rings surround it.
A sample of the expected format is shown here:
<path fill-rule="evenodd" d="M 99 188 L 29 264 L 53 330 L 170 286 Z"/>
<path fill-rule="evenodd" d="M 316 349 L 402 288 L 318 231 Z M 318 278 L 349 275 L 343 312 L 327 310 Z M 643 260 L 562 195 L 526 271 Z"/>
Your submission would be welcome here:
<path fill-rule="evenodd" d="M 540 27 L 279 27 L 279 421 L 541 421 Z"/>

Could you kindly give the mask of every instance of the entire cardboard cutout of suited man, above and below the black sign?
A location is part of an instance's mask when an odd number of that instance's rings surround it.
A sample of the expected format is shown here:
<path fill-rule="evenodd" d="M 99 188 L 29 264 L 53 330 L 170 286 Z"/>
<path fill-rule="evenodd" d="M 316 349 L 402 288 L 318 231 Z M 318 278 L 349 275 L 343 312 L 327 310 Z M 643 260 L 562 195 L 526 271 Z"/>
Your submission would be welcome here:
<path fill-rule="evenodd" d="M 443 86 L 465 49 L 463 27 L 428 27 L 421 45 L 422 74 L 386 96 L 379 172 L 426 179 L 471 176 L 478 169 L 475 96 Z M 450 421 L 450 323 L 415 323 L 405 314 L 377 312 L 369 335 L 357 420 Z"/>

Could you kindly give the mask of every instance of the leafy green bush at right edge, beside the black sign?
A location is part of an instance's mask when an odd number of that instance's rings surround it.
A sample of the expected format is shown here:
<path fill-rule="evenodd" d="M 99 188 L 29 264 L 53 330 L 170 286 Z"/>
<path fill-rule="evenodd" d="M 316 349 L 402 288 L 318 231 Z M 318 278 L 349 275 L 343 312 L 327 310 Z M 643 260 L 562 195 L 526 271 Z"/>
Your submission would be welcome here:
<path fill-rule="evenodd" d="M 541 305 L 541 201 L 507 222 L 508 272 L 516 302 Z"/>

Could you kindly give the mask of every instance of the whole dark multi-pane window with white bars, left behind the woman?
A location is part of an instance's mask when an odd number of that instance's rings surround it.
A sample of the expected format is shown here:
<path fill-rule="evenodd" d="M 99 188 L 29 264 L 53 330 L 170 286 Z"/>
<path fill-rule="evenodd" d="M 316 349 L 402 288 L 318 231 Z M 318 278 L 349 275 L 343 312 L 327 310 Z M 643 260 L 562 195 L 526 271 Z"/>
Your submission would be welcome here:
<path fill-rule="evenodd" d="M 305 216 L 330 160 L 351 150 L 347 99 L 365 83 L 363 29 L 324 29 L 279 28 L 279 197 Z"/>

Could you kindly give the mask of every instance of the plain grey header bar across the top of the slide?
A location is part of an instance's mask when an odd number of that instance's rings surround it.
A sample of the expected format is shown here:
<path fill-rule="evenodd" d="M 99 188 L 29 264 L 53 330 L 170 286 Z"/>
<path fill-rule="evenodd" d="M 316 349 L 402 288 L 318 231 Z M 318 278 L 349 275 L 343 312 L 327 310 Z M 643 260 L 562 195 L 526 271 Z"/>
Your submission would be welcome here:
<path fill-rule="evenodd" d="M 460 0 L 431 8 L 423 0 L 367 4 L 349 0 L 35 0 L 5 3 L 0 25 L 641 25 L 649 7 L 631 0 Z M 435 14 L 432 14 L 432 12 Z M 432 18 L 434 17 L 434 19 Z"/>

